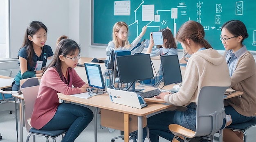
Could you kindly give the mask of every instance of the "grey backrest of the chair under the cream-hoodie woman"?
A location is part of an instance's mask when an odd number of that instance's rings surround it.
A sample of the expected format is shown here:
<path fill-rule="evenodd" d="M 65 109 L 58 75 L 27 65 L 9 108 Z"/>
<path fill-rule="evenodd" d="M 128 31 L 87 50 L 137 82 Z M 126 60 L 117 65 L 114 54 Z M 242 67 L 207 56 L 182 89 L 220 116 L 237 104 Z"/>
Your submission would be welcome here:
<path fill-rule="evenodd" d="M 226 116 L 223 99 L 227 88 L 217 86 L 201 88 L 196 109 L 195 136 L 213 135 L 223 129 Z"/>

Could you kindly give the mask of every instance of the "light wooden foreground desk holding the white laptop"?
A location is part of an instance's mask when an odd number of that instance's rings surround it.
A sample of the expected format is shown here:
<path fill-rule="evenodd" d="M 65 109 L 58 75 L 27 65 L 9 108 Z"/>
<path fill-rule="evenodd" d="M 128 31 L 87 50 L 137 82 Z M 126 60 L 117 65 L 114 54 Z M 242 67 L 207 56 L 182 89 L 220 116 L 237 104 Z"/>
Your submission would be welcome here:
<path fill-rule="evenodd" d="M 101 109 L 107 109 L 110 111 L 116 111 L 124 114 L 124 131 L 125 131 L 125 142 L 129 141 L 129 116 L 134 115 L 137 116 L 138 119 L 138 142 L 142 142 L 142 128 L 143 128 L 143 116 L 147 116 L 153 113 L 157 113 L 160 111 L 165 111 L 166 109 L 170 110 L 173 108 L 172 105 L 166 105 L 161 103 L 149 103 L 148 107 L 144 107 L 142 109 L 136 109 L 132 107 L 128 107 L 125 105 L 119 105 L 116 103 L 112 103 L 108 94 L 102 94 L 93 96 L 89 99 L 84 98 L 78 98 L 74 96 L 67 96 L 61 93 L 58 93 L 58 97 L 62 100 L 79 103 L 83 105 L 89 105 L 92 107 L 95 107 L 95 113 L 94 113 L 94 136 L 95 136 L 95 142 L 97 142 L 97 108 Z"/>

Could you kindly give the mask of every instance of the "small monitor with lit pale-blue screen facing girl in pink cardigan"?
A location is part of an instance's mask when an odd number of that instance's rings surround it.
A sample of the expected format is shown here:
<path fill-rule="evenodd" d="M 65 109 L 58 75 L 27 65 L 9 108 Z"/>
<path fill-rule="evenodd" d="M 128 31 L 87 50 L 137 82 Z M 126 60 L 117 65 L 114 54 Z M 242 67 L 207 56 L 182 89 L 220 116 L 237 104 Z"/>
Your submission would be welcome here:
<path fill-rule="evenodd" d="M 105 89 L 101 66 L 99 63 L 84 63 L 84 65 L 88 84 L 92 87 L 90 91 L 97 94 L 103 94 L 103 91 L 99 91 L 99 89 Z"/>

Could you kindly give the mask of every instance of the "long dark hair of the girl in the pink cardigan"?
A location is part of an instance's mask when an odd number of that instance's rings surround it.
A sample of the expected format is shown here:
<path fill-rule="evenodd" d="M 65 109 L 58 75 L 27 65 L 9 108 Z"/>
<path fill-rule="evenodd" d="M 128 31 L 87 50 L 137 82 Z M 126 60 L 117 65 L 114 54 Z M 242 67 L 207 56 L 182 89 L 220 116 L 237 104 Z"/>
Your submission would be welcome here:
<path fill-rule="evenodd" d="M 72 39 L 61 39 L 61 41 L 57 44 L 55 53 L 53 55 L 53 59 L 49 66 L 56 68 L 59 76 L 62 76 L 61 72 L 61 59 L 59 58 L 60 55 L 66 56 L 66 55 L 74 55 L 76 53 L 76 50 L 79 50 L 79 53 L 81 52 L 80 46 Z M 45 70 L 47 70 L 47 68 Z M 62 77 L 61 80 L 63 81 Z"/>

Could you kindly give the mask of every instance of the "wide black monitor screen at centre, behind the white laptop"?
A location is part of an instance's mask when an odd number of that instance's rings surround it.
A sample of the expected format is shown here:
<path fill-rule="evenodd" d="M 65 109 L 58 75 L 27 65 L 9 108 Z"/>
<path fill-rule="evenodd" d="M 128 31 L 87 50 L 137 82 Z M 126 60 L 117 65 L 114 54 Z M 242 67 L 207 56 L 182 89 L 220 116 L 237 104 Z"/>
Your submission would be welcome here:
<path fill-rule="evenodd" d="M 154 76 L 149 54 L 118 56 L 116 59 L 120 83 L 133 83 Z"/>

